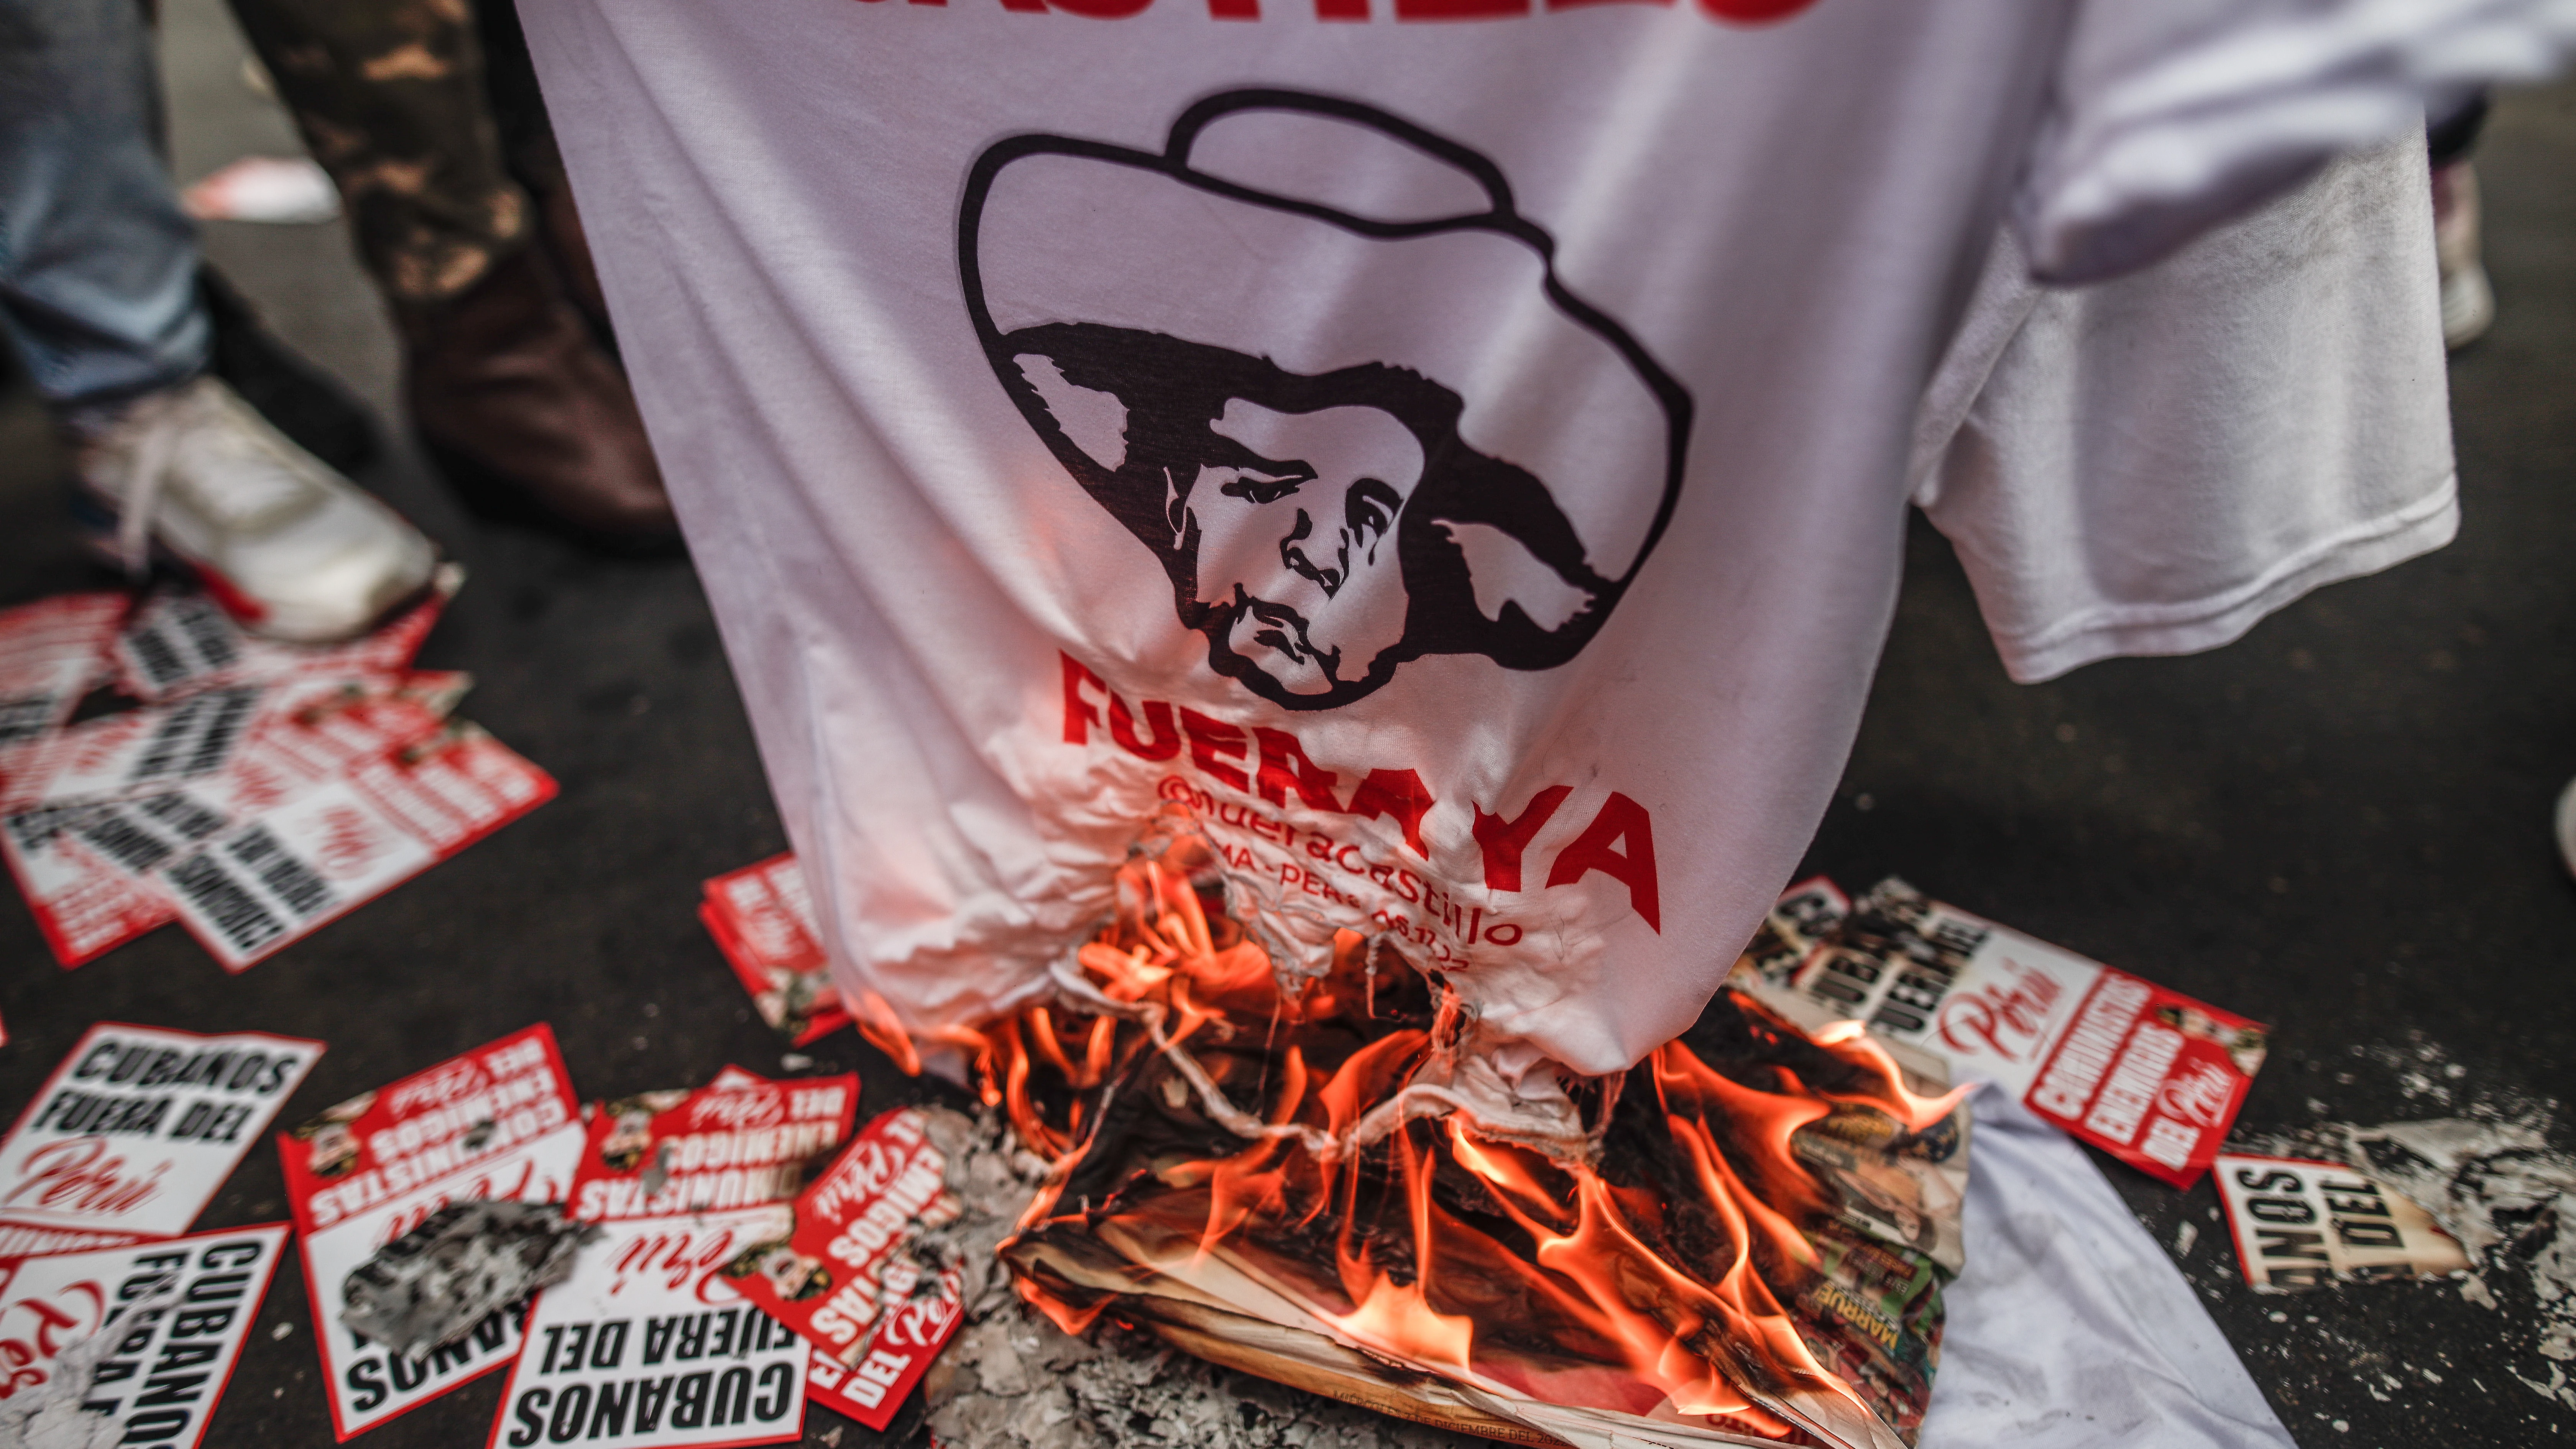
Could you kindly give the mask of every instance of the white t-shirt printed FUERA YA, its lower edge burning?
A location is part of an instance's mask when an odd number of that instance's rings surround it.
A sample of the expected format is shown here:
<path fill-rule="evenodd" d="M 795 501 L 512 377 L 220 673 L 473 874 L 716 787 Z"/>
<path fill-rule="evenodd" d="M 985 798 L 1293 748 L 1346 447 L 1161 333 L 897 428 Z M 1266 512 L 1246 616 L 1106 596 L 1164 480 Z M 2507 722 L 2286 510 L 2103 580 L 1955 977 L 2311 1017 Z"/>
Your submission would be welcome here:
<path fill-rule="evenodd" d="M 1504 1078 L 1685 1029 L 1788 879 L 1999 222 L 2053 278 L 2138 266 L 2576 36 L 2571 0 L 523 10 L 850 993 L 927 1029 L 1046 990 L 1177 804 L 1285 964 L 1383 936 Z M 2342 495 L 2280 487 L 2143 603 L 2342 547 Z"/>

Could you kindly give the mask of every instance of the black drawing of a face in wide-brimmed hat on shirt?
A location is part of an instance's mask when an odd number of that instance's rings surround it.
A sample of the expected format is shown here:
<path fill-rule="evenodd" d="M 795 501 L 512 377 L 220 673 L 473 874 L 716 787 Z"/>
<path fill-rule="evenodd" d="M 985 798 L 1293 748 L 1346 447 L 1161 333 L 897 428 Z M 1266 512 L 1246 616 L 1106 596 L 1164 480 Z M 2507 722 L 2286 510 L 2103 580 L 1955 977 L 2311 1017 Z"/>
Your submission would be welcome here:
<path fill-rule="evenodd" d="M 1492 160 L 1370 106 L 1231 90 L 1159 155 L 1002 139 L 958 268 L 1012 405 L 1208 665 L 1288 709 L 1422 655 L 1571 660 L 1682 487 L 1680 382 Z"/>

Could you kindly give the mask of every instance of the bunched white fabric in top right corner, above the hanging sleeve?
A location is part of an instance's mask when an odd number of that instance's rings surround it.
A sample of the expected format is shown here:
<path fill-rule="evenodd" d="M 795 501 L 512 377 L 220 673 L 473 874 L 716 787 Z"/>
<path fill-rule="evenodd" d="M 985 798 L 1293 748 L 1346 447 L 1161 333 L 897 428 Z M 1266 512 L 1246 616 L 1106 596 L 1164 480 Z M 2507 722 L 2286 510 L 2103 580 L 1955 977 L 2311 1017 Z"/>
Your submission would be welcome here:
<path fill-rule="evenodd" d="M 2102 281 L 2576 49 L 2576 0 L 2076 0 L 2012 224 Z"/>

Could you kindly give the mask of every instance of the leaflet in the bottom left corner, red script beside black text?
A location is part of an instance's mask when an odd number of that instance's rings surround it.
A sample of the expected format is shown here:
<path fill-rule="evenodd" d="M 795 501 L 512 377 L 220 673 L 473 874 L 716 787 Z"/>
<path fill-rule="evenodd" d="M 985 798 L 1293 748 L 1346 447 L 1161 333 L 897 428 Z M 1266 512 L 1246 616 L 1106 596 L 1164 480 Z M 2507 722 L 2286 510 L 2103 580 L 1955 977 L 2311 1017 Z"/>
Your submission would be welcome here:
<path fill-rule="evenodd" d="M 59 1441 L 196 1449 L 283 1253 L 286 1225 L 268 1222 L 8 1263 L 0 1408 L 41 1392 L 67 1348 L 111 1333 L 80 1403 L 100 1423 Z"/>

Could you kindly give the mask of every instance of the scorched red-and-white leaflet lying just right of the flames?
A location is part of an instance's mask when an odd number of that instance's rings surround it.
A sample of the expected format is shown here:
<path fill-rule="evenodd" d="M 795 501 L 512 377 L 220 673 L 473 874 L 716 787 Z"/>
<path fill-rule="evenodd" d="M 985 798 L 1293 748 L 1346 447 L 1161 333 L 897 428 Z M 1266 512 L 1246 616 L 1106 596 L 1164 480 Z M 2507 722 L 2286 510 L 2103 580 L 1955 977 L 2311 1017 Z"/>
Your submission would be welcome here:
<path fill-rule="evenodd" d="M 2267 1029 L 1886 879 L 1834 918 L 1793 887 L 1736 982 L 1798 1018 L 1868 1021 L 1958 1080 L 1991 1080 L 2043 1119 L 2192 1186 L 2262 1067 Z M 1783 957 L 1811 941 L 1783 985 Z M 1767 962 L 1767 964 L 1765 964 Z"/>

